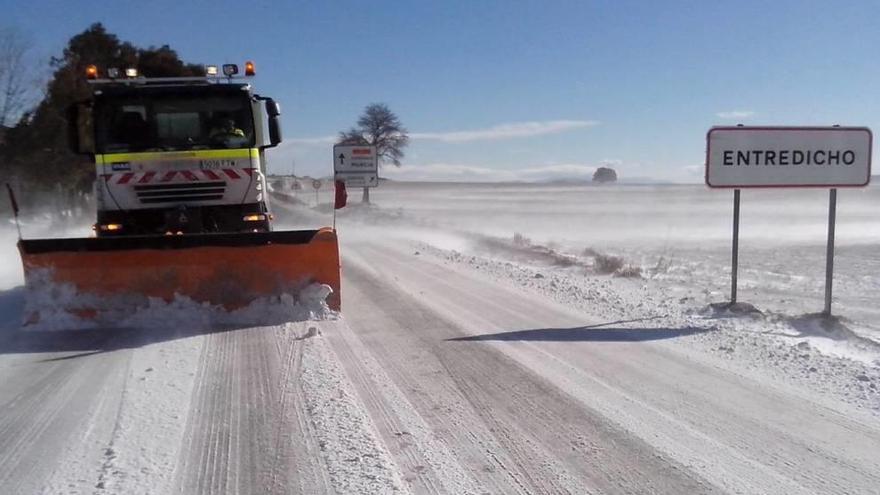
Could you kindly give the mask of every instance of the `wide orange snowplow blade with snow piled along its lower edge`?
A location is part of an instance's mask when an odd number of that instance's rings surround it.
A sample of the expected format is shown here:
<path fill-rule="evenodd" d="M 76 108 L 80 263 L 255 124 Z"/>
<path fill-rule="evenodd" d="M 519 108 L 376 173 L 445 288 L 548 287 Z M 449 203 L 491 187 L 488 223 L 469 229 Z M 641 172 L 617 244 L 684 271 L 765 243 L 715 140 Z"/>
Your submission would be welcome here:
<path fill-rule="evenodd" d="M 278 324 L 340 309 L 331 229 L 25 240 L 19 250 L 26 325 L 143 326 L 137 318 L 163 311 L 189 325 Z"/>

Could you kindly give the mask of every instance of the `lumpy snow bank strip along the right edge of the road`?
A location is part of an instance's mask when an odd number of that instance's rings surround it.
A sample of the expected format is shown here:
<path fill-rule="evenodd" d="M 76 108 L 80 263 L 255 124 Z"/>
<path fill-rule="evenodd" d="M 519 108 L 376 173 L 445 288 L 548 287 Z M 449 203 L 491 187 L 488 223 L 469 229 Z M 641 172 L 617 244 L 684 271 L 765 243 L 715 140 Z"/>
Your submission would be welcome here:
<path fill-rule="evenodd" d="M 880 353 L 863 348 L 866 359 L 860 360 L 852 359 L 853 354 L 847 357 L 828 354 L 817 345 L 811 345 L 802 332 L 796 334 L 800 338 L 795 338 L 792 336 L 795 334 L 781 330 L 792 329 L 792 324 L 818 325 L 815 319 L 772 314 L 724 317 L 695 307 L 692 296 L 676 297 L 651 280 L 528 266 L 439 249 L 421 242 L 416 243 L 415 249 L 418 254 L 541 294 L 616 325 L 650 321 L 653 326 L 710 330 L 681 336 L 664 345 L 685 344 L 733 369 L 758 371 L 762 376 L 880 415 L 880 361 L 876 361 Z M 824 336 L 822 339 L 833 340 Z"/>

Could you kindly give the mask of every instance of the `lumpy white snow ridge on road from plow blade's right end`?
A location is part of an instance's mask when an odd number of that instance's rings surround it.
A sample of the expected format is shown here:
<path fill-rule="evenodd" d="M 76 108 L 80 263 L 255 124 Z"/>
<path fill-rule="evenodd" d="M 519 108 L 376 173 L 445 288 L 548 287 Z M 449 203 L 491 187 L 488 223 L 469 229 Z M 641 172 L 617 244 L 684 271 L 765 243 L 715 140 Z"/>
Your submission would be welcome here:
<path fill-rule="evenodd" d="M 304 341 L 302 356 L 303 395 L 336 492 L 409 492 L 338 357 L 317 327 L 309 332 L 313 337 Z"/>

